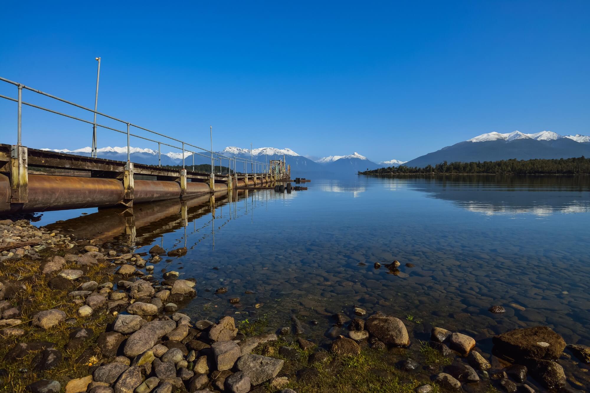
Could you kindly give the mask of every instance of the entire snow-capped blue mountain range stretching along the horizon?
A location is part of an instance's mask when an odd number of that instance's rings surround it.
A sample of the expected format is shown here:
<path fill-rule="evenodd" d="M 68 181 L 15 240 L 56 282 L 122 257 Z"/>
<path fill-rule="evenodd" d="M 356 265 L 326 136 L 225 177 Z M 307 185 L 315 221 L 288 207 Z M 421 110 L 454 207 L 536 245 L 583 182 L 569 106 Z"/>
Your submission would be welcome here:
<path fill-rule="evenodd" d="M 44 149 L 53 150 L 57 152 L 65 152 L 70 154 L 79 154 L 90 156 L 90 147 L 85 147 L 76 150 L 68 149 Z M 365 171 L 366 169 L 377 169 L 383 166 L 418 166 L 424 167 L 427 165 L 436 165 L 441 162 L 453 161 L 497 161 L 500 159 L 532 159 L 532 158 L 571 158 L 579 156 L 590 156 L 590 136 L 585 135 L 559 135 L 551 131 L 542 131 L 535 134 L 524 134 L 520 131 L 514 131 L 507 134 L 500 134 L 499 132 L 489 132 L 481 134 L 467 141 L 459 142 L 457 144 L 446 146 L 440 150 L 419 156 L 411 161 L 399 161 L 398 159 L 391 159 L 389 161 L 381 161 L 375 163 L 358 152 L 349 155 L 330 155 L 317 161 L 306 158 L 297 154 L 289 148 L 256 148 L 244 149 L 236 146 L 228 146 L 218 154 L 237 157 L 242 159 L 250 159 L 254 161 L 267 163 L 272 159 L 282 159 L 283 156 L 287 160 L 287 164 L 291 165 L 291 171 L 294 175 L 301 174 L 355 174 L 358 171 Z M 127 161 L 127 147 L 106 147 L 98 149 L 98 156 L 100 158 L 108 158 L 117 161 Z M 158 165 L 158 151 L 144 148 L 130 148 L 131 161 Z M 162 165 L 180 165 L 182 164 L 181 152 L 167 152 L 161 154 Z M 192 153 L 185 152 L 185 165 L 192 165 Z M 209 164 L 211 158 L 205 155 L 195 155 L 195 164 Z M 228 161 L 222 159 L 222 165 L 227 166 Z M 219 165 L 219 160 L 215 160 L 215 165 Z M 244 164 L 238 161 L 238 171 L 248 172 L 251 170 L 250 166 L 244 168 Z M 260 170 L 260 169 L 259 169 Z"/>

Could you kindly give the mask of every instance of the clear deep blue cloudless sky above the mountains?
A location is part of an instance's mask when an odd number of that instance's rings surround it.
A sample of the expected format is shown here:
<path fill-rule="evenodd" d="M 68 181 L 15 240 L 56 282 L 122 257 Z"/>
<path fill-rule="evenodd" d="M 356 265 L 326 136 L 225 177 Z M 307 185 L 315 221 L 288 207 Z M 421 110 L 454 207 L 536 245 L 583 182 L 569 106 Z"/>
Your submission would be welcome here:
<path fill-rule="evenodd" d="M 91 107 L 101 56 L 99 111 L 196 145 L 213 125 L 215 149 L 381 161 L 491 131 L 590 133 L 590 2 L 16 3 L 0 76 Z M 90 145 L 60 117 L 25 107 L 23 144 Z M 0 99 L 0 142 L 16 128 Z M 107 145 L 126 141 L 100 131 Z"/>

